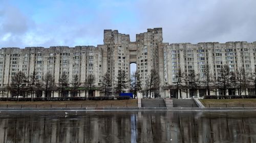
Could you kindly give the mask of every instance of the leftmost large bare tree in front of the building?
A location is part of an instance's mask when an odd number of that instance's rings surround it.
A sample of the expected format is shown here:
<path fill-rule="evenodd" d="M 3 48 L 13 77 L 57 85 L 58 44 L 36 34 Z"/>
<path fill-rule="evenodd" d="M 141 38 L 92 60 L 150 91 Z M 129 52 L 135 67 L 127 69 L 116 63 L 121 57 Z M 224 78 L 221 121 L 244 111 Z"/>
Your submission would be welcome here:
<path fill-rule="evenodd" d="M 18 97 L 24 95 L 24 92 L 27 90 L 26 89 L 27 82 L 28 82 L 27 76 L 22 71 L 17 72 L 17 74 L 15 74 L 11 78 L 11 84 L 8 88 L 13 94 L 16 95 L 17 100 L 18 100 Z"/>

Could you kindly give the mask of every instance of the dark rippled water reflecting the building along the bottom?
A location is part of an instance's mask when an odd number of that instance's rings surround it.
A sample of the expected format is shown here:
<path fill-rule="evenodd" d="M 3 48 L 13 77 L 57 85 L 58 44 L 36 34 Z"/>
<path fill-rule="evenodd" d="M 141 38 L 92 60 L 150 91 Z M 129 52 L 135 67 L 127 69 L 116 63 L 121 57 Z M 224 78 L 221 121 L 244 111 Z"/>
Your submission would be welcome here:
<path fill-rule="evenodd" d="M 1 112 L 0 142 L 256 142 L 255 112 Z M 172 140 L 171 140 L 172 139 Z"/>

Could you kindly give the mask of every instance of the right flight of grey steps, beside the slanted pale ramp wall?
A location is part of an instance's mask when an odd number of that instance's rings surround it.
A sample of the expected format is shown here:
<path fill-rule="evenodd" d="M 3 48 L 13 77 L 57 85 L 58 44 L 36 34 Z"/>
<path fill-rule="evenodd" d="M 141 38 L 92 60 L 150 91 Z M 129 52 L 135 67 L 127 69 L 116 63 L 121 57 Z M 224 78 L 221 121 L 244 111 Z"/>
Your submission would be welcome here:
<path fill-rule="evenodd" d="M 174 107 L 198 107 L 194 99 L 173 99 Z"/>

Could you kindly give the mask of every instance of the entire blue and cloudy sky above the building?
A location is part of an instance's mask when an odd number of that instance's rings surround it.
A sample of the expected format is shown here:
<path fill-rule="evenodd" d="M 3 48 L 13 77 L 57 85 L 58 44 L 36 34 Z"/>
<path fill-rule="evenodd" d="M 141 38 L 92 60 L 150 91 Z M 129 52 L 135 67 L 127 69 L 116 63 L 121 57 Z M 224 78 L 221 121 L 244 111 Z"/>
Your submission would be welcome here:
<path fill-rule="evenodd" d="M 94 45 L 103 30 L 162 27 L 163 40 L 256 41 L 255 0 L 0 0 L 0 47 Z"/>

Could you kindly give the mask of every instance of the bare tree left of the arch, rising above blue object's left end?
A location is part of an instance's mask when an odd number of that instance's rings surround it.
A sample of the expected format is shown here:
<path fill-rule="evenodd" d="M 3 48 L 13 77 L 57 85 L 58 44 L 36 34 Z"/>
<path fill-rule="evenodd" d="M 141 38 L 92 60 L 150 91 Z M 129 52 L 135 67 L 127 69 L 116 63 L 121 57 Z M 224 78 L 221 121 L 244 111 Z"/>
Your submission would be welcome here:
<path fill-rule="evenodd" d="M 125 71 L 119 70 L 116 80 L 116 93 L 120 96 L 122 92 L 124 92 L 124 89 L 127 89 L 127 75 L 125 74 Z"/>

